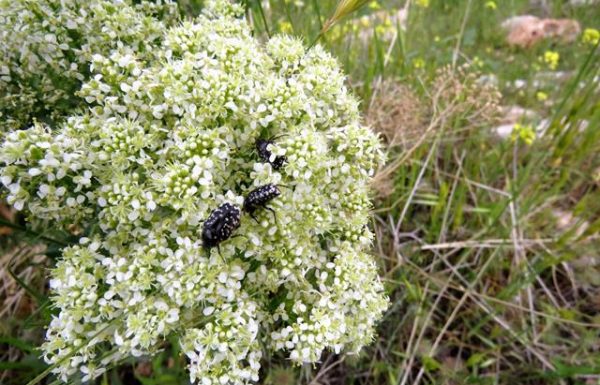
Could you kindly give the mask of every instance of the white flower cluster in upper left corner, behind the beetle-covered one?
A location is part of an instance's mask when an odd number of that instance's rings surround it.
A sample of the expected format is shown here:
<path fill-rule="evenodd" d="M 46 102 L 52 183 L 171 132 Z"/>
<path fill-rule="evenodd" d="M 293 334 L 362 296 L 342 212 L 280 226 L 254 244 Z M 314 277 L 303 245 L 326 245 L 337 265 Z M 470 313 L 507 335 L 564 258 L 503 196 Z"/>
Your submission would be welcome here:
<path fill-rule="evenodd" d="M 0 132 L 60 120 L 81 104 L 92 54 L 152 54 L 176 10 L 162 0 L 0 0 Z"/>

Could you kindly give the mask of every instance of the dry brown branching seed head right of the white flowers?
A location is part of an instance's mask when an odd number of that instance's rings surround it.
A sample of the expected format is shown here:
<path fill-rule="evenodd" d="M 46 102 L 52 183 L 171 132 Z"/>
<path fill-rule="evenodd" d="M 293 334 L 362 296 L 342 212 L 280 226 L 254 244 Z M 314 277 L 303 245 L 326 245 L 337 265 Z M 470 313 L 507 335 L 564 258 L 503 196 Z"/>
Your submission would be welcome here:
<path fill-rule="evenodd" d="M 424 96 L 395 80 L 380 83 L 366 115 L 367 124 L 383 136 L 388 152 L 395 154 L 373 181 L 380 197 L 394 191 L 394 171 L 424 143 L 438 139 L 458 143 L 474 130 L 489 130 L 500 121 L 502 95 L 496 86 L 479 79 L 480 73 L 469 65 L 444 67 L 436 72 Z M 438 138 L 449 125 L 452 135 Z"/>

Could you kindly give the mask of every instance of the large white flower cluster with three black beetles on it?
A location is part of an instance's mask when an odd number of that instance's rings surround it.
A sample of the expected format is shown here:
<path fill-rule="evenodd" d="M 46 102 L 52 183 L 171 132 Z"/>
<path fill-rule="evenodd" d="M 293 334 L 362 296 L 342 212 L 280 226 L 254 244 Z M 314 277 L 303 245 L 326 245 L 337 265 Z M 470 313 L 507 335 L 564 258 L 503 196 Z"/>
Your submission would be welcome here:
<path fill-rule="evenodd" d="M 152 57 L 94 54 L 88 113 L 0 149 L 8 202 L 87 229 L 52 272 L 60 312 L 43 349 L 63 379 L 172 334 L 206 385 L 257 381 L 263 351 L 315 362 L 373 338 L 387 308 L 367 254 L 379 140 L 329 54 L 287 36 L 263 46 L 242 11 L 209 0 Z M 271 162 L 256 149 L 269 138 Z M 274 213 L 242 215 L 239 236 L 203 247 L 210 213 L 266 184 L 281 190 Z"/>

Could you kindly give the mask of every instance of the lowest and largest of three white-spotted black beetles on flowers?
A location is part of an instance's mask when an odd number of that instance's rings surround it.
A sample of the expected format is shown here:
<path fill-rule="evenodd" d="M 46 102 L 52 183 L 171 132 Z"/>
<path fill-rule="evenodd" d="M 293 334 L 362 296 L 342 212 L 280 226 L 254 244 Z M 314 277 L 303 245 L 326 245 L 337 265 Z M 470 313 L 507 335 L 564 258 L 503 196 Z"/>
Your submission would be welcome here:
<path fill-rule="evenodd" d="M 230 203 L 223 203 L 213 210 L 202 227 L 202 244 L 205 249 L 219 247 L 219 244 L 231 238 L 240 227 L 240 210 Z"/>

